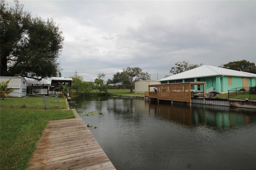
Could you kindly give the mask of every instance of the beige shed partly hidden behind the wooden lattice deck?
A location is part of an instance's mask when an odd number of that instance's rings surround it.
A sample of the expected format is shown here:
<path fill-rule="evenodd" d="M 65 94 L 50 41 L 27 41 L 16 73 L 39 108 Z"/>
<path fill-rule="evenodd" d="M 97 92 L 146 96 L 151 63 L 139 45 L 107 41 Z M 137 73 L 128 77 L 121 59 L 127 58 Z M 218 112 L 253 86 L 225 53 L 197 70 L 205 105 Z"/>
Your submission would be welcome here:
<path fill-rule="evenodd" d="M 144 93 L 148 91 L 148 85 L 160 84 L 157 80 L 139 80 L 134 83 L 135 93 Z M 154 87 L 150 87 L 150 91 L 154 91 Z"/>

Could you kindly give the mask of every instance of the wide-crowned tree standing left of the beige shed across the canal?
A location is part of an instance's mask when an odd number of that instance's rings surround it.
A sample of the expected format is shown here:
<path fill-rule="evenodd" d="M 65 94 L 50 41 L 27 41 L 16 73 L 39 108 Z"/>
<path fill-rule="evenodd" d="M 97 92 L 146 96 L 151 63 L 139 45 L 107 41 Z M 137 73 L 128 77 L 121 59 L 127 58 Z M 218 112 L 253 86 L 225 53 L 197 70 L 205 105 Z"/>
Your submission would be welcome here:
<path fill-rule="evenodd" d="M 150 80 L 150 75 L 148 72 L 142 72 L 139 67 L 127 67 L 123 71 L 117 72 L 113 76 L 114 83 L 122 83 L 126 87 L 130 88 L 130 92 L 134 89 L 134 82 L 138 80 Z"/>

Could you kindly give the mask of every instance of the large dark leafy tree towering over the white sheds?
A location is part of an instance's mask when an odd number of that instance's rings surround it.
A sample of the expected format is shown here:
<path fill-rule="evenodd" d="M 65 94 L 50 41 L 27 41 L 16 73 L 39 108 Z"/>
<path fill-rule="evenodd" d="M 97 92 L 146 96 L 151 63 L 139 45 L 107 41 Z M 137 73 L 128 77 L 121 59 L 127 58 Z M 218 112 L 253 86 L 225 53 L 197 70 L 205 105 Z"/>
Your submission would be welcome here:
<path fill-rule="evenodd" d="M 51 77 L 60 70 L 62 31 L 52 19 L 32 18 L 23 5 L 1 0 L 1 75 Z"/>

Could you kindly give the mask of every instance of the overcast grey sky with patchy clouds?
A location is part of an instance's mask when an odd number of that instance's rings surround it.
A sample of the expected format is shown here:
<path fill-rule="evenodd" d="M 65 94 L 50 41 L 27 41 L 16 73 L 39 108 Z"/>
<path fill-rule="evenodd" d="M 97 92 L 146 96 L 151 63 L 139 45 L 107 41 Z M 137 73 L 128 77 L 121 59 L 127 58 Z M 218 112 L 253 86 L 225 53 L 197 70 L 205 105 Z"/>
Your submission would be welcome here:
<path fill-rule="evenodd" d="M 62 77 L 105 81 L 126 67 L 162 79 L 175 63 L 256 63 L 256 1 L 24 1 L 63 32 Z"/>

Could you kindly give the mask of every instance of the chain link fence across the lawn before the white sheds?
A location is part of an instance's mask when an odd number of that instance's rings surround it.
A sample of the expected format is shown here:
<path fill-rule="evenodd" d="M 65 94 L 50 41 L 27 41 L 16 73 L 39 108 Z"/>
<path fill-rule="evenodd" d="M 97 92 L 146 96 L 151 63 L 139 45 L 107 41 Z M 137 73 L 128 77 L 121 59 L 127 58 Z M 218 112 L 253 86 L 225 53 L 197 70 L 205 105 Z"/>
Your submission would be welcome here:
<path fill-rule="evenodd" d="M 1 97 L 2 93 L 7 91 L 0 91 Z M 58 95 L 32 95 L 26 93 L 16 93 L 16 92 L 7 92 L 8 98 L 1 99 L 1 106 L 11 107 L 11 108 L 37 108 L 37 109 L 60 109 L 60 101 Z M 18 98 L 18 100 L 13 100 Z"/>

